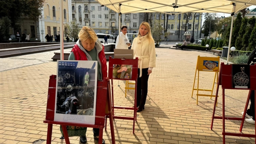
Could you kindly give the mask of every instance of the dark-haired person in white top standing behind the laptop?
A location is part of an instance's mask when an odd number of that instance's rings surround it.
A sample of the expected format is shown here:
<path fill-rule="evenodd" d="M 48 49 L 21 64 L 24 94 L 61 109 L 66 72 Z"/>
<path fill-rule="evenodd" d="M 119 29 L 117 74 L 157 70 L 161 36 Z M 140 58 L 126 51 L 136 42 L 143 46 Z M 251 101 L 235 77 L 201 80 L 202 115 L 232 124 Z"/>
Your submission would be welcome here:
<path fill-rule="evenodd" d="M 116 49 L 128 49 L 131 43 L 129 43 L 127 33 L 127 27 L 122 26 L 120 35 L 116 38 Z"/>

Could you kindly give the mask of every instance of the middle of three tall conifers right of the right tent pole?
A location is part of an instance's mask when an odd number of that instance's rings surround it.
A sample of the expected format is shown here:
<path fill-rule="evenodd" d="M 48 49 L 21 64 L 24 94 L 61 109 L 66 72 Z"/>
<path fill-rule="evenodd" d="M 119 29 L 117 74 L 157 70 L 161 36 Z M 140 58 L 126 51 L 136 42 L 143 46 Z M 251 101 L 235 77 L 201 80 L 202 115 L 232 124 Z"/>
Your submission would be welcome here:
<path fill-rule="evenodd" d="M 243 39 L 243 36 L 245 34 L 245 29 L 246 29 L 246 26 L 247 26 L 247 21 L 248 19 L 246 17 L 244 17 L 242 19 L 242 24 L 241 24 L 241 27 L 240 27 L 240 30 L 238 32 L 238 37 L 236 38 L 236 50 L 241 50 L 243 45 L 242 45 L 242 39 Z"/>

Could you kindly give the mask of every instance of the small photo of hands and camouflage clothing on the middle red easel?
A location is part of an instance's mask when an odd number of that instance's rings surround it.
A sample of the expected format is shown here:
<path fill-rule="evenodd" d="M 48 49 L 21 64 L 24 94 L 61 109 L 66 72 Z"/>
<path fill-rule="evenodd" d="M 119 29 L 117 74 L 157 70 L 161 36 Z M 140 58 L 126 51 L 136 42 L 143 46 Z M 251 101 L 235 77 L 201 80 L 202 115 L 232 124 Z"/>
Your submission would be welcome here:
<path fill-rule="evenodd" d="M 113 65 L 113 78 L 132 79 L 132 65 Z"/>

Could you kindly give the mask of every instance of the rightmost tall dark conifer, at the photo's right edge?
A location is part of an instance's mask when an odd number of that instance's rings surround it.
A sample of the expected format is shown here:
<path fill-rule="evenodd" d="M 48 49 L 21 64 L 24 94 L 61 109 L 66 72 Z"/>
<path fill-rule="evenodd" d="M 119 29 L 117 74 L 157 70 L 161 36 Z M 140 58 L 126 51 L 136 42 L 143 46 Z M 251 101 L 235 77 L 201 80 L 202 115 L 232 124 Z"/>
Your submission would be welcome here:
<path fill-rule="evenodd" d="M 250 36 L 251 36 L 251 33 L 252 33 L 252 29 L 254 28 L 254 25 L 255 25 L 255 22 L 256 22 L 256 19 L 255 17 L 253 16 L 252 18 L 250 18 L 248 20 L 248 25 L 246 26 L 246 29 L 245 29 L 245 34 L 243 36 L 243 39 L 242 39 L 242 49 L 241 50 L 246 50 L 248 45 L 249 45 L 249 39 L 250 39 Z"/>

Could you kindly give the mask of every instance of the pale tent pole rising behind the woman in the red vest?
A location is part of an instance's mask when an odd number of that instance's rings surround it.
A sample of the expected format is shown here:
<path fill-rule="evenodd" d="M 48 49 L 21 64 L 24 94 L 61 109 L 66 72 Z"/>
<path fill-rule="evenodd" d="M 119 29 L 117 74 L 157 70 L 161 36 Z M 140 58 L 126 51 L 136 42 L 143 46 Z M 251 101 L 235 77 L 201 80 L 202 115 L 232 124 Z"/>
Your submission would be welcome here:
<path fill-rule="evenodd" d="M 62 0 L 60 0 L 60 60 L 64 60 L 64 44 L 63 44 L 63 13 L 62 13 Z"/>

